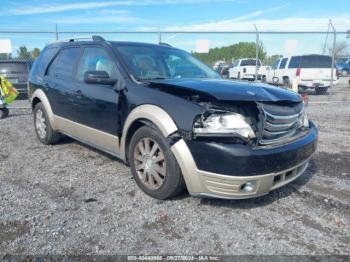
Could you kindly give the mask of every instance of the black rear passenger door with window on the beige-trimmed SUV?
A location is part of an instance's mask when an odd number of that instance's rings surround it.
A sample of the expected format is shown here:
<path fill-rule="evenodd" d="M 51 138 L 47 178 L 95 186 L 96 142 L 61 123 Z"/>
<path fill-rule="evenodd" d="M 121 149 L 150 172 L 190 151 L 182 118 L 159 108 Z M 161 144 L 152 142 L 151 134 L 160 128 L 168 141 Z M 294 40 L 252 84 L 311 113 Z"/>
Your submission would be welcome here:
<path fill-rule="evenodd" d="M 65 47 L 49 65 L 44 77 L 44 91 L 55 115 L 76 121 L 74 75 L 81 48 Z"/>

